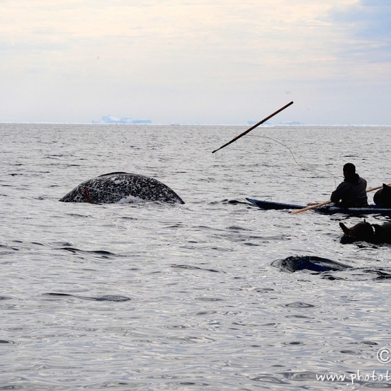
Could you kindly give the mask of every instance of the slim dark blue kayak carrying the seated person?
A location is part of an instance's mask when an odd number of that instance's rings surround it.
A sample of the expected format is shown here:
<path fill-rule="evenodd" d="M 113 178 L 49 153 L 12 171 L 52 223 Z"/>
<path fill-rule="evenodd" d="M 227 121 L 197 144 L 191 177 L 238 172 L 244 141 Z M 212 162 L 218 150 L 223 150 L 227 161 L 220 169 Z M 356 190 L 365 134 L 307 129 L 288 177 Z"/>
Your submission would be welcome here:
<path fill-rule="evenodd" d="M 292 209 L 304 209 L 308 205 L 299 204 L 298 202 L 276 202 L 266 200 L 254 200 L 254 198 L 246 198 L 248 202 L 254 206 L 258 206 L 260 209 L 265 210 L 292 210 Z M 336 206 L 335 204 L 327 204 L 324 206 L 318 206 L 315 209 L 311 209 L 319 213 L 327 215 L 333 215 L 335 213 L 343 213 L 345 215 L 391 215 L 391 208 L 382 208 L 379 205 L 371 204 L 364 208 L 343 208 L 342 206 Z"/>

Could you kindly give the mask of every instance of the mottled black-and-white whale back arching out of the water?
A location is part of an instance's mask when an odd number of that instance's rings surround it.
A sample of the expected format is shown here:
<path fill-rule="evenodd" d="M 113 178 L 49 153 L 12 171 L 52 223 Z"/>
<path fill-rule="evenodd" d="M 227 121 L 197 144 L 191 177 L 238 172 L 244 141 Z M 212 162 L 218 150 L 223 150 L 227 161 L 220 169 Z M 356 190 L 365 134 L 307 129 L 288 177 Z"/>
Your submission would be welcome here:
<path fill-rule="evenodd" d="M 62 202 L 89 202 L 91 204 L 112 204 L 144 201 L 185 204 L 173 190 L 154 178 L 127 172 L 112 172 L 88 179 L 69 191 Z"/>

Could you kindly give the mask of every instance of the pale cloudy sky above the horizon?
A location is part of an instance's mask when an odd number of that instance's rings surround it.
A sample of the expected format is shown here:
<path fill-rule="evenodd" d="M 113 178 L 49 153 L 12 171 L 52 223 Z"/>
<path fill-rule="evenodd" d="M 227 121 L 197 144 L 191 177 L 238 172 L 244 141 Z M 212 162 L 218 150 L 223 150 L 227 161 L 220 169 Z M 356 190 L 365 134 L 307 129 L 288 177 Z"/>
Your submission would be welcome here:
<path fill-rule="evenodd" d="M 0 0 L 0 122 L 391 125 L 391 0 Z"/>

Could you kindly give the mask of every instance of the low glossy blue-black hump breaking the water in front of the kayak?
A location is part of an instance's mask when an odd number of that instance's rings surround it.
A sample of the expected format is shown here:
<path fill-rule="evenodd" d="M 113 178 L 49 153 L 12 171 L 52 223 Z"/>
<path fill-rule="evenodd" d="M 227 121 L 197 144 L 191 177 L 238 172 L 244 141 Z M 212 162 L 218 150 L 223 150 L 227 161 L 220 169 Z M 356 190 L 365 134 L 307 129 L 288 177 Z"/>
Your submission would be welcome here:
<path fill-rule="evenodd" d="M 277 259 L 272 262 L 274 268 L 282 272 L 298 272 L 299 270 L 311 270 L 312 272 L 331 272 L 351 268 L 349 265 L 331 261 L 331 259 L 315 257 L 313 255 L 294 255 L 285 259 Z"/>

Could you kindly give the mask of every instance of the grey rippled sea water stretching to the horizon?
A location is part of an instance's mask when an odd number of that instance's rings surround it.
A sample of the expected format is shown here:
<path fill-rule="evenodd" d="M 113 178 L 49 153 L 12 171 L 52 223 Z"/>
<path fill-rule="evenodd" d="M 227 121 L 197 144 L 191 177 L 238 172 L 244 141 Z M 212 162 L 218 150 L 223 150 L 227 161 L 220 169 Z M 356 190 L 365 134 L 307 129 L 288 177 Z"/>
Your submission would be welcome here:
<path fill-rule="evenodd" d="M 246 202 L 328 200 L 348 161 L 390 182 L 391 128 L 258 128 L 211 154 L 244 130 L 0 125 L 1 390 L 391 387 L 390 246 L 340 244 L 359 217 Z M 112 171 L 186 203 L 58 202 Z M 270 265 L 291 255 L 355 268 Z"/>

